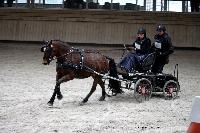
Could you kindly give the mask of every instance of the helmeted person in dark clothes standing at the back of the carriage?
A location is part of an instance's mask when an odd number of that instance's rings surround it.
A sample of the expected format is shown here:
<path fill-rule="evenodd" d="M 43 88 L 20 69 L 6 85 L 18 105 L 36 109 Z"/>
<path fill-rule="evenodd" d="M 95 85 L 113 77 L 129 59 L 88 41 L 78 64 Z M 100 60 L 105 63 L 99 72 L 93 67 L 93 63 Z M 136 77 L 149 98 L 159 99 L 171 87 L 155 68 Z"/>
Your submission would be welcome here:
<path fill-rule="evenodd" d="M 153 49 L 156 51 L 157 56 L 152 67 L 152 72 L 162 73 L 164 65 L 169 62 L 169 55 L 174 52 L 174 48 L 164 25 L 158 25 L 154 39 Z"/>

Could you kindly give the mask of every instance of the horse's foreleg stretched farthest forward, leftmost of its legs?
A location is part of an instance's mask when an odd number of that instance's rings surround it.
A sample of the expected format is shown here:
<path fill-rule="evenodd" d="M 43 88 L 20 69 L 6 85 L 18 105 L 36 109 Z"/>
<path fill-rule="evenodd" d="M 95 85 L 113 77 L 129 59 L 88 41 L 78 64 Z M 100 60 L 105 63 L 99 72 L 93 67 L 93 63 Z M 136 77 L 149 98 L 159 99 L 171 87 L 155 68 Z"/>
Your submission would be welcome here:
<path fill-rule="evenodd" d="M 50 98 L 50 100 L 49 100 L 49 102 L 48 102 L 48 105 L 53 106 L 53 103 L 54 103 L 56 94 L 59 94 L 59 91 L 60 91 L 60 84 L 63 83 L 63 82 L 69 81 L 69 80 L 71 80 L 71 79 L 73 79 L 71 76 L 66 75 L 66 76 L 63 76 L 62 78 L 60 78 L 60 79 L 56 82 L 56 86 L 55 86 L 53 95 L 51 96 L 51 98 Z M 60 93 L 60 94 L 61 94 L 61 93 Z M 62 95 L 62 94 L 61 94 L 61 95 Z"/>

